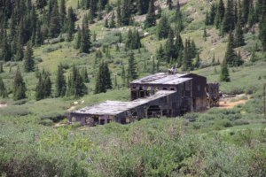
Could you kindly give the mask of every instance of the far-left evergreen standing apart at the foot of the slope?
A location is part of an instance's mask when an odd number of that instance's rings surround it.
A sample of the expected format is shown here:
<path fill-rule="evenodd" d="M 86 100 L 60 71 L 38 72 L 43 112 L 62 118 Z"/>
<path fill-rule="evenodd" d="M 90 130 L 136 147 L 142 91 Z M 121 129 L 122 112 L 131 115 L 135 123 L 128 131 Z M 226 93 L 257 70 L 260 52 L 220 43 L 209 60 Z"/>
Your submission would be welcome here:
<path fill-rule="evenodd" d="M 20 71 L 17 71 L 14 81 L 13 81 L 13 100 L 17 101 L 20 99 L 26 98 L 26 86 L 25 82 L 23 81 L 23 78 L 21 76 Z"/>

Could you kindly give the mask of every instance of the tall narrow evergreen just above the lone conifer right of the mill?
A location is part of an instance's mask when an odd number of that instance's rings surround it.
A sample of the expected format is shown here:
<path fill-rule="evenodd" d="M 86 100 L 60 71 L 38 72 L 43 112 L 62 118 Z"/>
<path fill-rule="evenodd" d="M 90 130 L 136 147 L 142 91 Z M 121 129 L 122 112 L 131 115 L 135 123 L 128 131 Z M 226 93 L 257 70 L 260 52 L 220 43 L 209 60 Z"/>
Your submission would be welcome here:
<path fill-rule="evenodd" d="M 234 60 L 236 58 L 236 53 L 234 51 L 234 42 L 233 42 L 233 35 L 230 31 L 229 35 L 228 35 L 228 42 L 227 42 L 227 48 L 226 48 L 226 52 L 225 52 L 225 56 L 224 59 L 226 60 L 226 65 L 233 65 Z"/>

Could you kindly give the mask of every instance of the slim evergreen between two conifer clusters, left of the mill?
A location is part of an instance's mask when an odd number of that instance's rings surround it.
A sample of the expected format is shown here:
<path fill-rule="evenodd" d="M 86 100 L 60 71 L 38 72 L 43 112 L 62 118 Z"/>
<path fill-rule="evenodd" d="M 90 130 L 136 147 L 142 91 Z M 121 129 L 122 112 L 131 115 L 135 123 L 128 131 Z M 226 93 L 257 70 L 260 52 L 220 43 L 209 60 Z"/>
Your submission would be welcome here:
<path fill-rule="evenodd" d="M 56 93 L 58 96 L 65 96 L 64 93 L 66 92 L 66 80 L 63 72 L 63 65 L 60 64 L 58 66 L 58 73 L 56 77 Z"/>

